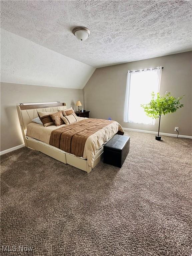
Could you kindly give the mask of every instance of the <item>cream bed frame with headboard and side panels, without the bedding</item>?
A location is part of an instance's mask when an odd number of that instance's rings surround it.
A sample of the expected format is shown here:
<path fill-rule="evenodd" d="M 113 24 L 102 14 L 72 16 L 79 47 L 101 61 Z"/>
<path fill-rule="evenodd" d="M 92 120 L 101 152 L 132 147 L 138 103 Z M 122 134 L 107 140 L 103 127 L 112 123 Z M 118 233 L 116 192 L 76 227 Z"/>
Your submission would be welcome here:
<path fill-rule="evenodd" d="M 81 169 L 89 173 L 103 158 L 103 147 L 97 152 L 97 157 L 94 160 L 93 168 L 88 165 L 86 159 L 79 158 L 77 156 L 68 154 L 66 152 L 58 151 L 57 148 L 53 149 L 49 146 L 42 144 L 40 141 L 29 140 L 26 137 L 26 128 L 32 119 L 38 117 L 37 111 L 52 112 L 66 109 L 66 103 L 46 103 L 46 104 L 31 104 L 31 105 L 18 105 L 17 112 L 19 116 L 19 122 L 23 135 L 23 140 L 26 147 L 38 150 L 54 159 L 57 159 L 65 164 L 72 165 L 78 169 Z"/>

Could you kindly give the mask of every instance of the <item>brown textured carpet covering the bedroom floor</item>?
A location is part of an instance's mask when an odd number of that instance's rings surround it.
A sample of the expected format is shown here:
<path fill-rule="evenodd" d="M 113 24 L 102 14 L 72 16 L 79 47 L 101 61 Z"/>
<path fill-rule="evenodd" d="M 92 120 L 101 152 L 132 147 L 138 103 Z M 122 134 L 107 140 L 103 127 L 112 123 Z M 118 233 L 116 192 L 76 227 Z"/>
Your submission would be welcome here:
<path fill-rule="evenodd" d="M 28 148 L 3 155 L 1 252 L 16 252 L 1 255 L 190 256 L 192 140 L 126 134 L 121 169 L 100 162 L 87 174 Z"/>

